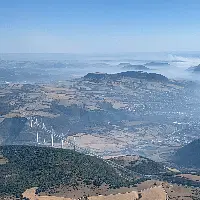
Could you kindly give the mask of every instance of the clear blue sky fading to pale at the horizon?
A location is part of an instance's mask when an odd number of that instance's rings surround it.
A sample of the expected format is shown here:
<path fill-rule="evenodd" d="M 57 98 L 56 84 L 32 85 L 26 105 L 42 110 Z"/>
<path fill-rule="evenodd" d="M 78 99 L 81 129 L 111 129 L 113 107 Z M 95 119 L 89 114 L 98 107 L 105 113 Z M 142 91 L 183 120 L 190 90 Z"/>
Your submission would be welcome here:
<path fill-rule="evenodd" d="M 200 51 L 199 0 L 1 0 L 0 53 Z"/>

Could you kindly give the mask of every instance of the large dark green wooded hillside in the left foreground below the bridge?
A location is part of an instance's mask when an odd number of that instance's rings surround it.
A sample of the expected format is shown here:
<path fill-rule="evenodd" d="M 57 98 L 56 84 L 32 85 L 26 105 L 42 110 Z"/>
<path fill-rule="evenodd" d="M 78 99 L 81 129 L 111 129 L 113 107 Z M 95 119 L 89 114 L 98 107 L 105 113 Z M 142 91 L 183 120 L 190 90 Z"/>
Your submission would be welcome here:
<path fill-rule="evenodd" d="M 0 196 L 21 194 L 30 187 L 47 189 L 62 184 L 86 184 L 110 186 L 129 185 L 103 160 L 72 150 L 2 146 L 0 152 L 8 162 L 0 165 Z"/>

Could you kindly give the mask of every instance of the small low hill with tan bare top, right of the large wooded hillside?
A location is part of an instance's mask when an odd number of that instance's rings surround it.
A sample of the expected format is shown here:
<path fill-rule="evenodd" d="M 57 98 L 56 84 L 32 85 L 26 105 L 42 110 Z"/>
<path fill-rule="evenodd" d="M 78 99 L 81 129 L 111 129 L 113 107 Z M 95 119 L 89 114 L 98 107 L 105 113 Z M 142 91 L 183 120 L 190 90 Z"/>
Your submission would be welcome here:
<path fill-rule="evenodd" d="M 110 160 L 126 167 L 131 171 L 144 175 L 155 175 L 166 172 L 166 169 L 161 163 L 144 158 L 142 156 L 119 156 L 111 158 Z"/>

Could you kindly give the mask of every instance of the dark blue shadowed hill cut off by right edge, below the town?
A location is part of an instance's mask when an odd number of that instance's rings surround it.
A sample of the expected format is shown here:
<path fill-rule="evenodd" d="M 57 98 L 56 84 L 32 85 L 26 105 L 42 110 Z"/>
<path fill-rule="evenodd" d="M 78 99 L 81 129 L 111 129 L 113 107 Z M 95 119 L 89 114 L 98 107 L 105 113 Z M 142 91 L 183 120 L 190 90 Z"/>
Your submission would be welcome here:
<path fill-rule="evenodd" d="M 173 160 L 177 165 L 200 169 L 200 139 L 177 150 Z"/>

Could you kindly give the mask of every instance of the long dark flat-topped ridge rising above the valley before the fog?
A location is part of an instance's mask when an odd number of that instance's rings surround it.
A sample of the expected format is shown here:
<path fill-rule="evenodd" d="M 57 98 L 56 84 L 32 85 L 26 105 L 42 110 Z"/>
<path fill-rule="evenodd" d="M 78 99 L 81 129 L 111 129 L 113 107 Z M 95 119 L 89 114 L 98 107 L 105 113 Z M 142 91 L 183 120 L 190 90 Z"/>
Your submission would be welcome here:
<path fill-rule="evenodd" d="M 100 81 L 104 79 L 111 79 L 111 80 L 117 80 L 121 78 L 137 78 L 137 79 L 146 79 L 148 81 L 168 81 L 168 78 L 156 73 L 147 73 L 147 72 L 141 72 L 141 71 L 127 71 L 127 72 L 121 72 L 117 74 L 106 74 L 106 73 L 88 73 L 84 76 L 85 80 L 90 81 Z"/>

